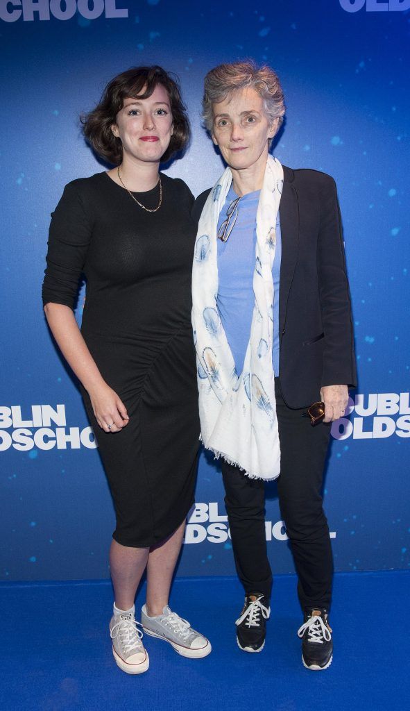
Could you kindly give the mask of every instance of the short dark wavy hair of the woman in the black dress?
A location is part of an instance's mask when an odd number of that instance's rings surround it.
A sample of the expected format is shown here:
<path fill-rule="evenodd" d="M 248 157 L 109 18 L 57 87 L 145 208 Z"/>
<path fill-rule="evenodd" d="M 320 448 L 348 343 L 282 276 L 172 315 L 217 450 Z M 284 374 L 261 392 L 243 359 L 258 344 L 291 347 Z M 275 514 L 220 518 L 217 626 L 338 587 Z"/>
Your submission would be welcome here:
<path fill-rule="evenodd" d="M 124 106 L 124 99 L 148 99 L 157 84 L 161 84 L 168 93 L 173 117 L 173 135 L 161 162 L 166 163 L 188 145 L 190 124 L 180 95 L 178 77 L 158 65 L 131 67 L 107 84 L 95 109 L 80 117 L 85 139 L 108 163 L 117 166 L 122 161 L 122 142 L 114 136 L 111 127 Z"/>

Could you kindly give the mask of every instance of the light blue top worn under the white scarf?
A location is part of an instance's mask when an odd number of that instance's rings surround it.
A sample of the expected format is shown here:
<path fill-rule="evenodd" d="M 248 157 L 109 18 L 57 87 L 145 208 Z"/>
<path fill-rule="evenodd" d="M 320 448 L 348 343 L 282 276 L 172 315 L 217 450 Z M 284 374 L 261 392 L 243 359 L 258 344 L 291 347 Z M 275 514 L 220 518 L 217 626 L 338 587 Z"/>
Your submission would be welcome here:
<path fill-rule="evenodd" d="M 259 193 L 244 195 L 238 205 L 237 220 L 227 242 L 217 240 L 219 287 L 217 308 L 225 328 L 238 375 L 242 373 L 251 333 L 254 311 L 254 269 L 257 244 Z M 218 229 L 226 219 L 227 208 L 237 198 L 231 186 L 218 220 Z M 276 251 L 272 265 L 274 279 L 274 344 L 272 365 L 279 375 L 279 274 L 281 270 L 281 225 L 276 220 Z"/>

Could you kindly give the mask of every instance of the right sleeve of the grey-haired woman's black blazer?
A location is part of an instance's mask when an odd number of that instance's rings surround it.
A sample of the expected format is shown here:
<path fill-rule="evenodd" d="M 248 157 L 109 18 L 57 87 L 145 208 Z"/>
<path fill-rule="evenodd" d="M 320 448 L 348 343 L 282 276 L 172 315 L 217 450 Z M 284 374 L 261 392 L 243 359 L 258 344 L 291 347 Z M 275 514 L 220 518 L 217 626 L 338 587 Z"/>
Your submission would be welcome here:
<path fill-rule="evenodd" d="M 352 310 L 335 181 L 322 196 L 318 276 L 325 343 L 322 385 L 356 385 Z"/>

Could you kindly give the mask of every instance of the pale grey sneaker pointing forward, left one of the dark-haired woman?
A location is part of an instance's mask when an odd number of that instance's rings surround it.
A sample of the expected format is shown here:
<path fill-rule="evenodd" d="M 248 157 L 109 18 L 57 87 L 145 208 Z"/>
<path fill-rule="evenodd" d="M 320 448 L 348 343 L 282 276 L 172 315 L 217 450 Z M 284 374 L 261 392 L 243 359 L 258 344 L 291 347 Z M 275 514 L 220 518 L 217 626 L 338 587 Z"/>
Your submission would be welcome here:
<path fill-rule="evenodd" d="M 133 612 L 113 615 L 109 623 L 114 659 L 127 674 L 142 674 L 149 668 L 149 656 L 141 641 L 139 624 Z"/>

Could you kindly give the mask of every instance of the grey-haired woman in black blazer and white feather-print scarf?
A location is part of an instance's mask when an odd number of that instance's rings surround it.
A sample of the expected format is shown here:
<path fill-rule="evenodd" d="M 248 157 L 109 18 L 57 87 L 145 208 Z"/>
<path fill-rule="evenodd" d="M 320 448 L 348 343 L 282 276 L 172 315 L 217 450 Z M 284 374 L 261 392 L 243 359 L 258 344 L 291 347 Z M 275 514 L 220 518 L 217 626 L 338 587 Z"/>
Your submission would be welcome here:
<path fill-rule="evenodd" d="M 193 328 L 202 439 L 222 457 L 245 591 L 237 642 L 247 652 L 264 646 L 264 481 L 279 476 L 304 614 L 303 664 L 320 670 L 333 655 L 333 563 L 320 489 L 329 423 L 345 411 L 355 361 L 335 182 L 269 155 L 284 112 L 269 67 L 222 64 L 205 77 L 205 126 L 227 169 L 195 204 Z"/>

